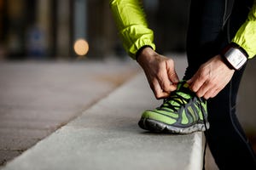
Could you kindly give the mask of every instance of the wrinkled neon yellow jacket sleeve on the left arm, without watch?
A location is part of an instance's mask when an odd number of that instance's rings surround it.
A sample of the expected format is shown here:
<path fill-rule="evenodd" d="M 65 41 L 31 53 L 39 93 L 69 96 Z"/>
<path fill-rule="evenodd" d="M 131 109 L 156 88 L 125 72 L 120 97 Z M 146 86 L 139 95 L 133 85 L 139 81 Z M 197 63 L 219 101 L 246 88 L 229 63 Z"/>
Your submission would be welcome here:
<path fill-rule="evenodd" d="M 137 51 L 143 46 L 155 49 L 154 32 L 148 28 L 139 0 L 111 0 L 109 4 L 119 37 L 132 59 L 136 59 Z"/>

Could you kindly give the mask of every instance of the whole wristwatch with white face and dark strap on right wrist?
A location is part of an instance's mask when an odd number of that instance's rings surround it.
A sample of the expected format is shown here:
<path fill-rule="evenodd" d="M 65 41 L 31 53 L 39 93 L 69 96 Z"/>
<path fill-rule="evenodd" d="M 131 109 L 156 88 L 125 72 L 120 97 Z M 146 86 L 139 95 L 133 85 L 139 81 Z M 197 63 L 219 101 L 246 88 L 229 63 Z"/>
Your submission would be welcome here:
<path fill-rule="evenodd" d="M 226 64 L 236 71 L 241 69 L 247 62 L 247 53 L 234 44 L 230 44 L 229 47 L 225 48 L 222 56 L 227 61 Z"/>

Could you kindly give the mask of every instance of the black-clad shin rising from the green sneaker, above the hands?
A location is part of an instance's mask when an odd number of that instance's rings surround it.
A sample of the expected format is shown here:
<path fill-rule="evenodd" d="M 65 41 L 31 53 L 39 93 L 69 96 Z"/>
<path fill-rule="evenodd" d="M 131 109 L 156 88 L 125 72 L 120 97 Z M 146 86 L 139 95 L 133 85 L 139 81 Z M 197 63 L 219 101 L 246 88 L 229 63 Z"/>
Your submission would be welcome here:
<path fill-rule="evenodd" d="M 191 0 L 187 35 L 189 67 L 185 80 L 192 77 L 201 64 L 218 54 L 224 9 L 224 0 Z"/>

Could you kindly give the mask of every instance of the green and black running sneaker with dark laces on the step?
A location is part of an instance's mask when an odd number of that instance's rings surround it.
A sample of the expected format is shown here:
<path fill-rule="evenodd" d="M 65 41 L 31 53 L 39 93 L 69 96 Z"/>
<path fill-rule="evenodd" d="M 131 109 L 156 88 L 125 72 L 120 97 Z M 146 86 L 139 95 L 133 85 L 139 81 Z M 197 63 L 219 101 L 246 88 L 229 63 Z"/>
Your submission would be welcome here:
<path fill-rule="evenodd" d="M 143 112 L 138 125 L 157 133 L 205 131 L 210 127 L 207 121 L 207 100 L 197 97 L 187 82 L 179 82 L 177 90 L 160 107 Z"/>

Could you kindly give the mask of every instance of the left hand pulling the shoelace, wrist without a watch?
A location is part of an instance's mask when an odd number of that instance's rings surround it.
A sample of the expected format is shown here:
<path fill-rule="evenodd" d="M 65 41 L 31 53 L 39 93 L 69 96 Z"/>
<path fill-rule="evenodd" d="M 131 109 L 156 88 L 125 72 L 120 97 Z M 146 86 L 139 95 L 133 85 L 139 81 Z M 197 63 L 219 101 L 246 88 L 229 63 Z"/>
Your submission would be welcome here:
<path fill-rule="evenodd" d="M 137 62 L 143 67 L 156 99 L 163 99 L 177 89 L 178 77 L 174 62 L 157 54 L 152 48 L 143 48 Z"/>

